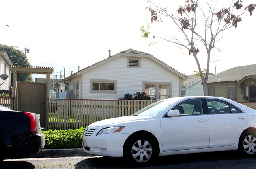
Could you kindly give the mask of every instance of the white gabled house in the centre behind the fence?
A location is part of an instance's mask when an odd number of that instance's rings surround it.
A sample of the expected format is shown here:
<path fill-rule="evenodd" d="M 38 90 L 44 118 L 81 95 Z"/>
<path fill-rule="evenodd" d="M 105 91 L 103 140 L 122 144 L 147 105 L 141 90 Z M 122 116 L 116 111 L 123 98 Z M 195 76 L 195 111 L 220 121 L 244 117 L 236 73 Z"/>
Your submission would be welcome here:
<path fill-rule="evenodd" d="M 128 49 L 65 78 L 57 91 L 71 89 L 73 99 L 118 99 L 127 93 L 146 92 L 161 100 L 181 96 L 185 79 L 152 55 Z"/>

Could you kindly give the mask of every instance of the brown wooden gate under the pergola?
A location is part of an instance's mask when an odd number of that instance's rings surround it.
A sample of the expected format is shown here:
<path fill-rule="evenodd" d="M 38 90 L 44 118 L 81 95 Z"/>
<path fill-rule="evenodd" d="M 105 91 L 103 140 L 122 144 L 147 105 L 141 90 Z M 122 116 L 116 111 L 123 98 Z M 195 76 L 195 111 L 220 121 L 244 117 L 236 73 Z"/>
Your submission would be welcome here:
<path fill-rule="evenodd" d="M 40 114 L 41 127 L 45 127 L 46 83 L 18 82 L 18 111 Z"/>

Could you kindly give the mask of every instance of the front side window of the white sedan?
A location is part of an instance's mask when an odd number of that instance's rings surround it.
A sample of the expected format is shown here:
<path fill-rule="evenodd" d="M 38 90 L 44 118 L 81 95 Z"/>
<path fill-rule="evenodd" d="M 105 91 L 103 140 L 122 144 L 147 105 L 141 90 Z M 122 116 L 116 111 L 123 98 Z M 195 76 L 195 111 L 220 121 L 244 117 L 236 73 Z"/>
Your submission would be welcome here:
<path fill-rule="evenodd" d="M 172 110 L 179 110 L 180 116 L 203 114 L 201 99 L 190 99 L 179 103 Z"/>

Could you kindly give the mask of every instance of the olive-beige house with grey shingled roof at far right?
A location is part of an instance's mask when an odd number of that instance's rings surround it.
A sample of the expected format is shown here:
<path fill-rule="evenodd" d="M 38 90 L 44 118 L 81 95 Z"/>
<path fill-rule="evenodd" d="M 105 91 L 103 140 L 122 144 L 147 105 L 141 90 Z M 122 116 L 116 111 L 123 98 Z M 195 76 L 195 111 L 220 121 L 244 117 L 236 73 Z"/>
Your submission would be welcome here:
<path fill-rule="evenodd" d="M 208 79 L 208 95 L 256 102 L 256 64 L 238 66 Z"/>

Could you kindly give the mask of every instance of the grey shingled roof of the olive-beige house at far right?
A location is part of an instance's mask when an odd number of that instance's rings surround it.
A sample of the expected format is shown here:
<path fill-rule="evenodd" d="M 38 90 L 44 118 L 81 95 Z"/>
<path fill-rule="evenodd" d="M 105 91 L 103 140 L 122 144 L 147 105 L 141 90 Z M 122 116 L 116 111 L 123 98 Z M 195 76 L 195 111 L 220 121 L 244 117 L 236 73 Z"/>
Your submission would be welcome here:
<path fill-rule="evenodd" d="M 210 78 L 207 83 L 240 81 L 248 76 L 256 77 L 256 64 L 225 70 Z"/>

